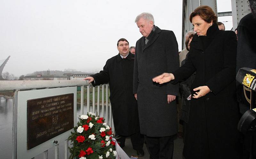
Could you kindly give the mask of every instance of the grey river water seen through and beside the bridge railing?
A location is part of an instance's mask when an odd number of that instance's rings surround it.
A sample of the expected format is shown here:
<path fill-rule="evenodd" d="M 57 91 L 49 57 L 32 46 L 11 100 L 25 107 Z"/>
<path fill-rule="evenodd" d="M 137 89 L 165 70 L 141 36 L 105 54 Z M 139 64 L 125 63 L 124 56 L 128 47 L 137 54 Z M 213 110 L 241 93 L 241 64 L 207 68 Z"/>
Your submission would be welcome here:
<path fill-rule="evenodd" d="M 86 104 L 85 104 L 86 105 Z M 77 117 L 80 115 L 80 104 L 77 103 Z M 12 158 L 12 109 L 13 99 L 0 96 L 0 158 L 11 159 Z M 95 106 L 97 111 L 97 105 Z M 84 106 L 84 112 L 87 111 L 87 107 Z M 92 111 L 92 105 L 90 105 L 90 111 Z M 109 112 L 109 107 L 108 107 Z M 86 114 L 86 113 L 85 113 Z M 102 110 L 100 107 L 100 117 L 102 117 Z M 104 117 L 106 117 L 106 106 L 104 110 Z M 105 120 L 105 122 L 107 122 Z M 110 119 L 108 116 L 108 123 Z M 110 125 L 110 124 L 109 124 Z M 113 121 L 112 121 L 113 125 Z M 59 143 L 59 158 L 64 158 L 64 142 Z M 43 159 L 43 154 L 35 157 L 35 159 Z M 54 159 L 54 148 L 48 150 L 48 159 Z"/>

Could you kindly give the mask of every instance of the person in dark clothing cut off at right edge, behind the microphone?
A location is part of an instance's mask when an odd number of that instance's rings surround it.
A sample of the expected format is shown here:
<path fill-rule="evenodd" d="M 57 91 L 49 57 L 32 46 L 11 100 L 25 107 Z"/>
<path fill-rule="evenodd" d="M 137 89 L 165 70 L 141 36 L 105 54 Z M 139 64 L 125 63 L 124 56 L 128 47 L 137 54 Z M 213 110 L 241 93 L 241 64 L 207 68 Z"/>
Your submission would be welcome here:
<path fill-rule="evenodd" d="M 237 54 L 236 54 L 236 72 L 240 68 L 249 67 L 256 69 L 256 0 L 247 1 L 250 4 L 251 13 L 245 15 L 237 26 Z M 243 85 L 236 83 L 237 100 L 239 102 L 240 115 L 250 109 L 250 104 L 245 99 Z M 249 91 L 246 91 L 250 98 Z M 250 155 L 250 136 L 242 135 L 243 159 Z M 253 141 L 253 159 L 256 159 L 256 137 Z"/>

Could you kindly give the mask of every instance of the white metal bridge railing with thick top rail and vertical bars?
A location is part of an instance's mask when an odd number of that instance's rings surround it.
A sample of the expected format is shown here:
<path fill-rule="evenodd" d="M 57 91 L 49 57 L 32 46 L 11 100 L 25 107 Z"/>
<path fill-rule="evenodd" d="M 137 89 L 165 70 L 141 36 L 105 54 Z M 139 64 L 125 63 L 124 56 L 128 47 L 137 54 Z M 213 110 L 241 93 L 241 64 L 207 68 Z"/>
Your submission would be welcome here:
<path fill-rule="evenodd" d="M 108 84 L 97 86 L 97 111 L 95 111 L 95 87 L 92 88 L 92 110 L 90 110 L 90 87 L 92 86 L 86 80 L 10 80 L 0 81 L 0 91 L 14 91 L 14 102 L 13 102 L 13 150 L 12 158 L 17 159 L 17 94 L 20 90 L 31 90 L 31 89 L 47 89 L 57 87 L 81 87 L 81 110 L 80 114 L 84 113 L 84 86 L 87 86 L 87 112 L 96 113 L 100 117 L 104 117 L 108 125 L 114 129 L 112 124 L 112 109 L 111 103 L 109 102 L 108 111 Z M 101 114 L 100 114 L 100 87 L 101 87 Z M 105 91 L 104 91 L 105 90 Z M 104 103 L 104 92 L 106 101 L 106 116 L 105 116 L 105 103 Z M 109 119 L 108 119 L 109 116 Z M 110 121 L 110 122 L 109 122 Z M 55 145 L 55 159 L 59 159 L 59 144 Z M 37 154 L 39 155 L 39 154 Z M 44 159 L 48 159 L 48 150 L 44 152 Z M 65 159 L 68 159 L 68 140 L 65 140 Z"/>

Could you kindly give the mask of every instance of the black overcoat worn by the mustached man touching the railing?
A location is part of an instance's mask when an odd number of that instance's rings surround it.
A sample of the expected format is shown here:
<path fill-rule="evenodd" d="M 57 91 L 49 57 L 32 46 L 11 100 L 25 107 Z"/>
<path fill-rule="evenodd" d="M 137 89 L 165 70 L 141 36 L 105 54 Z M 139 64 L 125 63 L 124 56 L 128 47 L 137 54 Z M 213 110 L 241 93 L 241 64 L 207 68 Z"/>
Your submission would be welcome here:
<path fill-rule="evenodd" d="M 93 86 L 109 83 L 115 131 L 118 135 L 129 136 L 139 132 L 137 101 L 132 93 L 134 55 L 130 52 L 126 58 L 120 54 L 107 60 L 103 71 L 90 75 Z"/>

